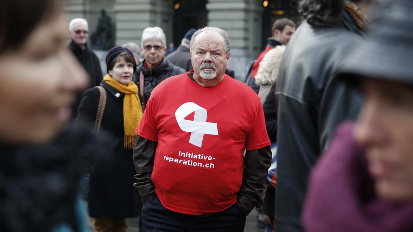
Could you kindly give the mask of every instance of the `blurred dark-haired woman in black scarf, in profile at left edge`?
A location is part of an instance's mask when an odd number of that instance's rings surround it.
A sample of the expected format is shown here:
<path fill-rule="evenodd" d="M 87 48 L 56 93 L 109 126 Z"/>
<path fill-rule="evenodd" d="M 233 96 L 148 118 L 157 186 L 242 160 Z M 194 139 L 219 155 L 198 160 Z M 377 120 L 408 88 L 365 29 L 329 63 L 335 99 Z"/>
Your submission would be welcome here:
<path fill-rule="evenodd" d="M 94 139 L 67 130 L 87 76 L 66 24 L 58 0 L 0 1 L 0 231 L 88 230 L 77 194 Z"/>

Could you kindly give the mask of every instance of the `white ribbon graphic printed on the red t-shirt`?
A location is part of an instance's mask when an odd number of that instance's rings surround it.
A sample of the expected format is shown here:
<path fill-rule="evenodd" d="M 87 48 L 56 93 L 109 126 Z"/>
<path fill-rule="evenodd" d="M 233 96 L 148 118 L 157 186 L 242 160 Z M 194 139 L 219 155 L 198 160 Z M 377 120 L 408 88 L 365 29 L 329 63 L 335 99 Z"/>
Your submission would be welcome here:
<path fill-rule="evenodd" d="M 194 121 L 184 119 L 192 112 L 195 112 Z M 193 102 L 187 102 L 178 107 L 175 111 L 175 118 L 181 130 L 191 133 L 189 143 L 197 147 L 202 147 L 204 134 L 218 135 L 218 125 L 207 123 L 207 110 Z"/>

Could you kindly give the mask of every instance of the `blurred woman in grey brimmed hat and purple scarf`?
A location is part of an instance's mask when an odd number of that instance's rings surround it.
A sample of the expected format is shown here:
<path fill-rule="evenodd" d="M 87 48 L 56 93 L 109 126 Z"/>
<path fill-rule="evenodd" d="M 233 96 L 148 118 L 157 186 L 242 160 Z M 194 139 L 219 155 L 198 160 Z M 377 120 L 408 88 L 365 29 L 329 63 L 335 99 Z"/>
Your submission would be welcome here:
<path fill-rule="evenodd" d="M 413 231 L 413 2 L 379 6 L 370 39 L 341 70 L 360 81 L 366 99 L 311 174 L 309 232 Z"/>

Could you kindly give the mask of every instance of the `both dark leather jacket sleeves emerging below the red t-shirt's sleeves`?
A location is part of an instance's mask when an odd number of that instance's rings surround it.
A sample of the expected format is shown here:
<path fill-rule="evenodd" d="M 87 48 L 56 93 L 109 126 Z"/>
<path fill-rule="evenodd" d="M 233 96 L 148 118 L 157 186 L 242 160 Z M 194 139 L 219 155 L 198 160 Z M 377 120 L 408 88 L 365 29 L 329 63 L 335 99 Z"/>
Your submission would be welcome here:
<path fill-rule="evenodd" d="M 158 143 L 155 141 L 138 136 L 133 148 L 133 163 L 137 173 L 135 178 L 138 180 L 133 186 L 138 189 L 142 201 L 146 201 L 152 194 L 155 194 L 155 186 L 151 176 L 157 145 Z M 237 205 L 245 215 L 248 215 L 254 206 L 262 207 L 264 180 L 271 165 L 270 146 L 247 151 L 244 164 L 245 168 L 240 192 L 238 192 Z"/>

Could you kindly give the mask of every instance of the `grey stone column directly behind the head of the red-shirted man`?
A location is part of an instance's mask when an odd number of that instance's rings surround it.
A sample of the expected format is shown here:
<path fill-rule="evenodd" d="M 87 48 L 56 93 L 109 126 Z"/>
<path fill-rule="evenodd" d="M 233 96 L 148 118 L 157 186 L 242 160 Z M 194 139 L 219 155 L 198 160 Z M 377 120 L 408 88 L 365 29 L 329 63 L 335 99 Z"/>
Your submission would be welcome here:
<path fill-rule="evenodd" d="M 208 25 L 228 32 L 231 53 L 227 67 L 243 81 L 247 64 L 260 52 L 261 0 L 208 0 L 207 10 Z"/>

